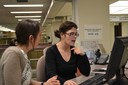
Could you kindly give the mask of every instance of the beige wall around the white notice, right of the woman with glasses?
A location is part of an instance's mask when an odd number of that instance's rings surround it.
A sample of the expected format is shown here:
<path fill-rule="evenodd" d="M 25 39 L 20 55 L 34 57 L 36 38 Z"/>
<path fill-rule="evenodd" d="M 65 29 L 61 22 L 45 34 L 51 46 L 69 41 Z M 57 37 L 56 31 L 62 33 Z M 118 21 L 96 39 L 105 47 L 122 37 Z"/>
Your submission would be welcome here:
<path fill-rule="evenodd" d="M 98 43 L 103 44 L 107 53 L 111 50 L 111 30 L 109 24 L 109 1 L 108 0 L 74 0 L 74 21 L 79 25 L 80 39 L 82 40 L 93 40 L 87 39 L 85 36 L 85 25 L 100 25 L 102 34 L 100 38 L 95 40 Z"/>

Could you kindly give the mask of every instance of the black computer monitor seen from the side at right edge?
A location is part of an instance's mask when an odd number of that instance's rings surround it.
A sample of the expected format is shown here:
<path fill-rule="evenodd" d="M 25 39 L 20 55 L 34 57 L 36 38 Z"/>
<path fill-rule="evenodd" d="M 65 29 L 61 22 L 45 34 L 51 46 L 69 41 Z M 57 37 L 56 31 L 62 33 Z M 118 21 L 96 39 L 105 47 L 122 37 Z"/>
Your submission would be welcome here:
<path fill-rule="evenodd" d="M 117 70 L 119 70 L 126 64 L 124 63 L 124 65 L 123 64 L 120 65 L 121 60 L 123 58 L 122 55 L 126 46 L 128 46 L 128 36 L 125 37 L 120 36 L 115 38 L 110 60 L 107 66 L 107 71 L 105 74 L 106 75 L 105 78 L 107 81 L 110 80 L 112 77 L 114 77 L 114 75 L 116 75 L 117 73 Z M 127 62 L 127 60 L 125 62 Z"/>

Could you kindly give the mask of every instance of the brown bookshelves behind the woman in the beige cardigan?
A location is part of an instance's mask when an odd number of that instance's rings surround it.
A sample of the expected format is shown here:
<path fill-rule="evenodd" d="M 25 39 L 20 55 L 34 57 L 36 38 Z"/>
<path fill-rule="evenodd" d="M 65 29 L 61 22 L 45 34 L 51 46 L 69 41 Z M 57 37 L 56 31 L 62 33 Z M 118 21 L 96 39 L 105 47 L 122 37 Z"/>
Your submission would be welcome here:
<path fill-rule="evenodd" d="M 45 34 L 46 35 L 46 34 Z M 9 43 L 12 39 L 15 39 L 15 33 L 0 31 L 0 58 L 4 50 L 9 47 Z M 50 46 L 46 41 L 45 36 L 42 36 L 40 44 L 32 51 L 28 52 L 28 59 L 30 60 L 30 65 L 32 68 L 32 77 L 36 78 L 36 64 L 38 59 L 43 56 L 43 49 Z"/>

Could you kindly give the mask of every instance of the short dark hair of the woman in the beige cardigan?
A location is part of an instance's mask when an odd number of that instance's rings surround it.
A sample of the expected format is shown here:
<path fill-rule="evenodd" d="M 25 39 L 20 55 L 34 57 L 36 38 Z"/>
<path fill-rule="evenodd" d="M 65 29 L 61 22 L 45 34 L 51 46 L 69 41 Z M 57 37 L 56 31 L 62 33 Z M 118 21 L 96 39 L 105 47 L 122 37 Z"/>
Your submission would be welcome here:
<path fill-rule="evenodd" d="M 29 36 L 33 35 L 36 39 L 39 31 L 39 22 L 29 19 L 20 21 L 15 29 L 17 43 L 20 45 L 28 45 Z"/>

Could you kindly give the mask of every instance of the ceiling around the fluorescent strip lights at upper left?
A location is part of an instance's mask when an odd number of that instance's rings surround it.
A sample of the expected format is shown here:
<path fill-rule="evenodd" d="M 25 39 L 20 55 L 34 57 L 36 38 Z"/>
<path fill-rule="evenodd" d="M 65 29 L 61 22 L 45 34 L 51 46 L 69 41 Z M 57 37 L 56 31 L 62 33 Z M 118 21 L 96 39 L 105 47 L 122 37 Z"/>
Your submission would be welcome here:
<path fill-rule="evenodd" d="M 110 0 L 110 4 L 118 0 Z M 52 5 L 51 2 L 54 2 Z M 68 3 L 69 2 L 69 3 Z M 51 20 L 55 18 L 62 18 L 61 16 L 71 15 L 71 2 L 72 0 L 28 0 L 27 2 L 17 2 L 17 0 L 1 0 L 0 1 L 0 27 L 7 27 L 9 29 L 15 28 L 18 23 L 18 19 L 15 16 L 34 16 L 38 15 L 40 17 L 40 23 L 42 26 L 46 26 Z M 7 7 L 3 5 L 11 4 L 43 4 L 43 7 Z M 11 14 L 14 11 L 42 11 L 42 13 L 30 13 L 30 14 Z"/>

